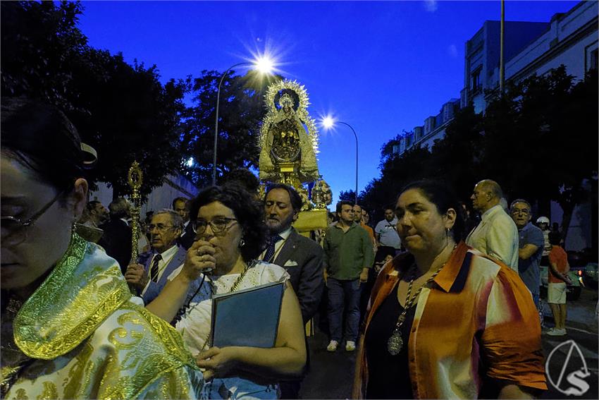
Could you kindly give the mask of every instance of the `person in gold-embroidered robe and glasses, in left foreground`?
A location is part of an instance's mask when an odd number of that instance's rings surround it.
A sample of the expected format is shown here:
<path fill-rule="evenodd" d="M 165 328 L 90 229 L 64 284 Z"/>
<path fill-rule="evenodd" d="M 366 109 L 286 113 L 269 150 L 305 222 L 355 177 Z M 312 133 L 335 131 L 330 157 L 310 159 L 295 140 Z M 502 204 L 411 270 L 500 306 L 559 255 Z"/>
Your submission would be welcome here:
<path fill-rule="evenodd" d="M 132 298 L 117 262 L 75 233 L 82 144 L 55 107 L 2 99 L 1 398 L 194 398 L 178 332 Z"/>

